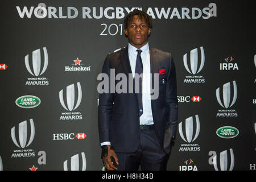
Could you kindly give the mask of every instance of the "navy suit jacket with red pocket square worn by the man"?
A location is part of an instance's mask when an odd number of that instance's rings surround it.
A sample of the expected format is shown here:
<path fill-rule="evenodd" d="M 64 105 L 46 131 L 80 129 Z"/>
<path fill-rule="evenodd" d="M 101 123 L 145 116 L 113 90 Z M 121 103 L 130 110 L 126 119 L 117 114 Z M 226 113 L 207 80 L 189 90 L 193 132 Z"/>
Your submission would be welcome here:
<path fill-rule="evenodd" d="M 109 79 L 109 93 L 100 94 L 98 105 L 100 143 L 111 142 L 115 152 L 135 152 L 139 146 L 141 129 L 137 96 L 128 92 L 129 86 L 134 86 L 134 81 L 129 82 L 128 79 L 129 73 L 132 72 L 127 47 L 106 56 L 102 73 L 106 73 L 109 78 L 110 69 L 115 69 L 115 75 L 125 73 L 128 86 L 127 93 L 110 93 Z M 156 136 L 160 146 L 168 154 L 177 128 L 176 72 L 171 53 L 150 47 L 150 69 L 151 73 L 159 73 L 162 69 L 166 71 L 159 75 L 159 97 L 151 100 L 151 108 Z M 114 84 L 118 82 L 119 80 Z M 151 88 L 154 89 L 154 74 L 151 76 L 151 83 Z"/>

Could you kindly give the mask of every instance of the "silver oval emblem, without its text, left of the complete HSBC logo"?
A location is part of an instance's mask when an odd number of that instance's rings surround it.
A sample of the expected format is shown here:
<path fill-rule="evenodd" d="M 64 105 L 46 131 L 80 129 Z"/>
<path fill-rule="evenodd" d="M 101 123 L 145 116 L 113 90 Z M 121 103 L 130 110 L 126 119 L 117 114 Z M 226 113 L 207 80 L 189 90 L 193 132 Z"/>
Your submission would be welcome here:
<path fill-rule="evenodd" d="M 15 126 L 11 129 L 11 139 L 13 139 L 14 144 L 19 148 L 28 147 L 34 137 L 35 137 L 35 126 L 33 119 L 30 119 L 30 139 L 27 142 L 27 121 L 23 121 L 19 123 L 19 130 L 18 130 L 18 136 L 19 136 L 19 144 L 15 137 Z"/>

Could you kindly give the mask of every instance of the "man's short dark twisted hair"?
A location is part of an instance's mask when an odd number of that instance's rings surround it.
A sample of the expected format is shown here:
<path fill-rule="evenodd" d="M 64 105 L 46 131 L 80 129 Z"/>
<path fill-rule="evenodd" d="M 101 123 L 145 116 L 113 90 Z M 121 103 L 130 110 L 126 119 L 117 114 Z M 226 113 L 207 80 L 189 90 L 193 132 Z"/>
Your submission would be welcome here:
<path fill-rule="evenodd" d="M 147 23 L 148 27 L 153 28 L 152 19 L 150 18 L 150 16 L 147 13 L 145 13 L 144 11 L 135 9 L 134 11 L 130 11 L 130 13 L 125 16 L 125 20 L 124 20 L 125 29 L 128 27 L 128 24 L 131 22 L 134 15 L 138 15 L 139 19 L 142 19 L 142 17 L 143 17 L 145 22 Z"/>

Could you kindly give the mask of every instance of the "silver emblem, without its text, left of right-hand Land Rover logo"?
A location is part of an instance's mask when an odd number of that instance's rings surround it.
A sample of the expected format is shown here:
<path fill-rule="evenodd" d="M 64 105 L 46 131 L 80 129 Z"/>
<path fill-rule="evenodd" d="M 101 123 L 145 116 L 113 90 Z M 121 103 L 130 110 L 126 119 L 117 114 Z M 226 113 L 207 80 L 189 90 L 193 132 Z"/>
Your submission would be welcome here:
<path fill-rule="evenodd" d="M 186 134 L 186 138 L 183 135 L 183 130 L 182 130 L 182 122 L 179 123 L 179 133 L 180 133 L 180 137 L 188 143 L 193 142 L 194 140 L 196 140 L 196 138 L 199 135 L 200 132 L 200 121 L 199 121 L 199 116 L 195 115 L 196 118 L 196 134 L 193 137 L 193 117 L 189 117 L 187 119 L 185 119 L 185 134 Z"/>

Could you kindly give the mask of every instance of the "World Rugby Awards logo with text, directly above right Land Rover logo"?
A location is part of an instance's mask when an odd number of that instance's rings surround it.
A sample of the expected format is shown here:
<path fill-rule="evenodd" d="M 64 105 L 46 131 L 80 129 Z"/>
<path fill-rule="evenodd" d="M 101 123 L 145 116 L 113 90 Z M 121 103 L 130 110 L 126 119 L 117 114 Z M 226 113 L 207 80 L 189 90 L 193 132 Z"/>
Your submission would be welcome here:
<path fill-rule="evenodd" d="M 222 86 L 222 98 L 221 98 L 221 89 L 220 87 L 216 89 L 216 98 L 218 104 L 224 109 L 218 110 L 216 117 L 237 117 L 238 113 L 234 109 L 229 109 L 232 107 L 237 100 L 237 84 L 236 81 L 233 81 L 233 90 L 231 89 L 230 82 Z M 233 93 L 233 98 L 231 101 L 231 96 Z"/>

